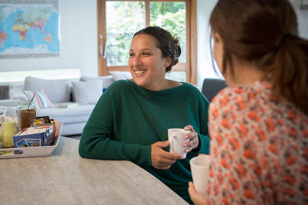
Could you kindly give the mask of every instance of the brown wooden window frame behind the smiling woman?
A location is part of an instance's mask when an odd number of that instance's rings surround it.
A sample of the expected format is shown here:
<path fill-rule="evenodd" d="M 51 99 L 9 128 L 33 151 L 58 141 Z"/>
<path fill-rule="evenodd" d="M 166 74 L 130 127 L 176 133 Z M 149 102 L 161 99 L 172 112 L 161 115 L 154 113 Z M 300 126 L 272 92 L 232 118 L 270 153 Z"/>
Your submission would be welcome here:
<path fill-rule="evenodd" d="M 106 43 L 106 2 L 107 1 L 143 1 L 145 2 L 145 26 L 150 23 L 150 2 L 186 3 L 186 63 L 178 63 L 172 71 L 186 71 L 186 81 L 197 84 L 197 17 L 196 0 L 97 0 L 98 12 L 98 59 L 99 76 L 109 75 L 109 71 L 129 71 L 128 66 L 107 66 L 104 58 Z M 137 32 L 137 31 L 136 31 Z M 105 51 L 106 52 L 106 51 Z"/>

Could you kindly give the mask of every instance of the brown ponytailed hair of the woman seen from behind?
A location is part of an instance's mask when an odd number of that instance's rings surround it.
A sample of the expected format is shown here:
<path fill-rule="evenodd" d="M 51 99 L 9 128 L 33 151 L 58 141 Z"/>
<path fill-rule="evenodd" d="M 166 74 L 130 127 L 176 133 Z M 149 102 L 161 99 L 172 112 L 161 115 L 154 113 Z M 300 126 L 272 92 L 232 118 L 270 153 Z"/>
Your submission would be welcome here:
<path fill-rule="evenodd" d="M 232 56 L 266 73 L 272 94 L 308 114 L 308 40 L 300 38 L 287 0 L 219 0 L 209 19 L 223 42 L 222 73 L 234 75 Z"/>

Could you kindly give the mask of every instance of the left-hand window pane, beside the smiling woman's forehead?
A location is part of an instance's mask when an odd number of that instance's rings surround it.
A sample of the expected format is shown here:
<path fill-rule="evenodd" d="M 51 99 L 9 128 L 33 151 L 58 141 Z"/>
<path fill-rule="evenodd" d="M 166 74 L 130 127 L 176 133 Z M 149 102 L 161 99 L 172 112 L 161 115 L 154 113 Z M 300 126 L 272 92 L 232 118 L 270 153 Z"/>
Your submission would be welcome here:
<path fill-rule="evenodd" d="M 107 66 L 128 64 L 132 35 L 145 27 L 145 2 L 106 1 Z"/>

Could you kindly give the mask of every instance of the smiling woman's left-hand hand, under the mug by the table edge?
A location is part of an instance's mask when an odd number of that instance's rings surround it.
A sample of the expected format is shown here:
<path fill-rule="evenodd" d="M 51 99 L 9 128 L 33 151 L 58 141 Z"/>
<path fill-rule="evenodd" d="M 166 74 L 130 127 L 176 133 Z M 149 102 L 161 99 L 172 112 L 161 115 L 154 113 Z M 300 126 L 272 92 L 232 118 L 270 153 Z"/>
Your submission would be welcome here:
<path fill-rule="evenodd" d="M 166 152 L 163 148 L 169 146 L 169 141 L 158 141 L 151 145 L 152 166 L 159 170 L 167 170 L 177 159 L 183 159 L 181 154 Z"/>

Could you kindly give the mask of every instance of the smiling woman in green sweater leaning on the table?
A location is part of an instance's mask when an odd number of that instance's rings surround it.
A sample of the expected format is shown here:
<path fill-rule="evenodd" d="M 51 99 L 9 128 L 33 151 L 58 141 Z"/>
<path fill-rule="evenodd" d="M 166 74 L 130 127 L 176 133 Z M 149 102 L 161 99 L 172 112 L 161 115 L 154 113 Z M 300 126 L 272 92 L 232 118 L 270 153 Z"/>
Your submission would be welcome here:
<path fill-rule="evenodd" d="M 81 157 L 129 160 L 160 179 L 187 202 L 189 160 L 208 154 L 208 101 L 188 83 L 165 78 L 178 63 L 179 39 L 160 27 L 134 34 L 128 65 L 132 79 L 117 80 L 103 93 L 82 132 Z M 167 130 L 191 133 L 187 156 L 169 152 Z"/>

